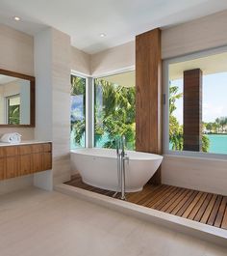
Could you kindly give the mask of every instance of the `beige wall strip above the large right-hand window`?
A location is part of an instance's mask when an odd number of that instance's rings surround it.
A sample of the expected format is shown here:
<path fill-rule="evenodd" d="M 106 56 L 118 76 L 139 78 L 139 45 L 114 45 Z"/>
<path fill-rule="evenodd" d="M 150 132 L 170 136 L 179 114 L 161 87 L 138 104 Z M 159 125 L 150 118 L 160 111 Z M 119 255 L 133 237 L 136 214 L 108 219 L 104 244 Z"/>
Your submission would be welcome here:
<path fill-rule="evenodd" d="M 227 11 L 162 31 L 162 58 L 171 58 L 227 44 Z"/>

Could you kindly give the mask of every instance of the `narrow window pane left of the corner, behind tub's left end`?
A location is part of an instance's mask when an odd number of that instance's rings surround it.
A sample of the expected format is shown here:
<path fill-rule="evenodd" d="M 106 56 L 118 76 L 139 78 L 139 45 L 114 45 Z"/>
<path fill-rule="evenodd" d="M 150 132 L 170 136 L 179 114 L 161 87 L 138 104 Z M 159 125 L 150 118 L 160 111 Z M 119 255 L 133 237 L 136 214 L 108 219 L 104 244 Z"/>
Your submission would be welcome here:
<path fill-rule="evenodd" d="M 86 147 L 86 84 L 87 78 L 71 75 L 71 149 Z"/>

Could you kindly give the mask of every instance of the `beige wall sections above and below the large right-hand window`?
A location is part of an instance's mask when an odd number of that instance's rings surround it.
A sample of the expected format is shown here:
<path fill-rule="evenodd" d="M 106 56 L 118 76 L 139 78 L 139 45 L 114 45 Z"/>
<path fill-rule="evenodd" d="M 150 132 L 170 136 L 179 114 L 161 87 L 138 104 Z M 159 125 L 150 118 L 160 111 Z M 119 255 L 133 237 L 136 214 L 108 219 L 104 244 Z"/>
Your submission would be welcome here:
<path fill-rule="evenodd" d="M 202 17 L 162 31 L 163 59 L 227 45 L 227 11 Z M 227 195 L 227 160 L 164 156 L 162 180 Z"/>

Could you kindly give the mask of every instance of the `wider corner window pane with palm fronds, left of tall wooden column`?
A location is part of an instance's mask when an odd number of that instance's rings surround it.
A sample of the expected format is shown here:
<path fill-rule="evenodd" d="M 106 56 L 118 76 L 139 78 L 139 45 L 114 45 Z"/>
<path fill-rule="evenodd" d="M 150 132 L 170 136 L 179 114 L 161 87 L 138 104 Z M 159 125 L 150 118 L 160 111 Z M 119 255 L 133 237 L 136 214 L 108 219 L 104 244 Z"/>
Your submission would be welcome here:
<path fill-rule="evenodd" d="M 94 79 L 94 146 L 115 148 L 124 135 L 128 150 L 135 149 L 135 71 Z"/>

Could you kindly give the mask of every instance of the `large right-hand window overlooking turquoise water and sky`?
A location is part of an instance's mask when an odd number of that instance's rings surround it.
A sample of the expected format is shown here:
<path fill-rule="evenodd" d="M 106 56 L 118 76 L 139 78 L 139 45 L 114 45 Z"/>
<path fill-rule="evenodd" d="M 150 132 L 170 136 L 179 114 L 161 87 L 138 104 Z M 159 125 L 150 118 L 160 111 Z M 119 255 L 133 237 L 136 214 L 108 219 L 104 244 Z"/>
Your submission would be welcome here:
<path fill-rule="evenodd" d="M 198 80 L 200 91 L 191 82 L 194 76 L 186 77 L 187 71 L 200 71 Z M 193 74 L 194 75 L 194 74 Z M 195 74 L 196 76 L 196 74 Z M 196 79 L 195 79 L 196 81 Z M 196 82 L 195 82 L 196 83 Z M 194 95 L 189 95 L 189 87 Z M 194 90 L 194 91 L 193 91 Z M 190 131 L 199 125 L 201 138 L 200 152 L 227 154 L 227 52 L 208 54 L 204 57 L 191 56 L 188 60 L 180 59 L 168 64 L 168 149 L 170 151 L 185 151 L 184 143 L 189 139 Z M 193 100 L 197 99 L 196 100 Z M 189 99 L 191 101 L 189 101 Z M 191 120 L 184 124 L 189 115 L 190 104 L 197 104 L 199 123 L 193 123 L 194 107 Z M 200 106 L 199 106 L 200 105 Z M 187 112 L 188 111 L 188 112 Z M 185 115 L 185 118 L 184 118 Z M 197 120 L 198 120 L 197 119 Z M 189 133 L 189 134 L 186 134 Z M 193 140 L 191 136 L 191 140 Z M 192 150 L 193 151 L 193 150 Z"/>

